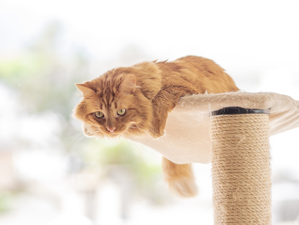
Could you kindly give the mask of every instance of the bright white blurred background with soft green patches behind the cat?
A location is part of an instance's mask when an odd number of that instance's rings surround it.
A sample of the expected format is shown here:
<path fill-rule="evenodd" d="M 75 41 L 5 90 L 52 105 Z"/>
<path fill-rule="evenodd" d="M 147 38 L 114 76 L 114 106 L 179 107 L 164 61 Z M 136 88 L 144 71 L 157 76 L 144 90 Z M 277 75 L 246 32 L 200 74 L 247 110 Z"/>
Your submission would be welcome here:
<path fill-rule="evenodd" d="M 172 196 L 157 152 L 83 136 L 74 84 L 198 55 L 299 100 L 298 52 L 294 0 L 1 0 L 0 224 L 213 224 L 210 164 L 194 164 L 196 198 Z M 270 138 L 274 225 L 299 224 L 298 133 Z"/>

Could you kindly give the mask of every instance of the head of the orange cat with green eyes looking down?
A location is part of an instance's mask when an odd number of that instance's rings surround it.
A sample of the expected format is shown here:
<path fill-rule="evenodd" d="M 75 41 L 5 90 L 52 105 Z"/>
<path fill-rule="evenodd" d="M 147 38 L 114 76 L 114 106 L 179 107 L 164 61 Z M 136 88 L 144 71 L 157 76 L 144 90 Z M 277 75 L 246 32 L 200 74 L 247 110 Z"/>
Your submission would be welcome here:
<path fill-rule="evenodd" d="M 152 120 L 151 100 L 141 93 L 134 74 L 111 70 L 76 85 L 84 99 L 74 109 L 87 136 L 118 137 L 147 132 Z"/>

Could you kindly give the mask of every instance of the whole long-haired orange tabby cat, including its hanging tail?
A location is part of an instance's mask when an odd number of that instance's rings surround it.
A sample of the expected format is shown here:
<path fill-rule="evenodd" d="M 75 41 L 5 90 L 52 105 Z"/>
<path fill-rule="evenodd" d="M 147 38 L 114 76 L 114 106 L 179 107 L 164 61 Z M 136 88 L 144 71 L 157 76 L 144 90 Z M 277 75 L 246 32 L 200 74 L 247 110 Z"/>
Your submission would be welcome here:
<path fill-rule="evenodd" d="M 83 121 L 84 133 L 125 138 L 144 133 L 163 136 L 167 114 L 181 96 L 239 90 L 221 67 L 197 56 L 116 68 L 77 87 L 84 99 L 74 116 Z M 162 168 L 170 189 L 182 196 L 196 194 L 190 164 L 163 158 Z"/>

